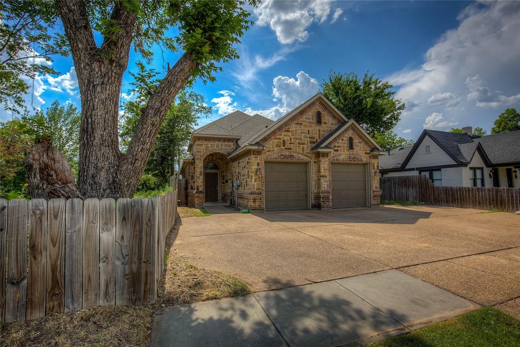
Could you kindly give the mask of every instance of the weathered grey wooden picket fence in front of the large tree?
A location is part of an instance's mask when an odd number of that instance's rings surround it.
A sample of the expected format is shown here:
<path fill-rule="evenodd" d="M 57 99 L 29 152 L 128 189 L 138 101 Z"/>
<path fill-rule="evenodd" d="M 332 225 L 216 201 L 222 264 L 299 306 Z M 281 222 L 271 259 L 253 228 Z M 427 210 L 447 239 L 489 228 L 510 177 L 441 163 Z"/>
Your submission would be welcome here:
<path fill-rule="evenodd" d="M 157 298 L 177 192 L 151 199 L 0 199 L 0 317 Z"/>

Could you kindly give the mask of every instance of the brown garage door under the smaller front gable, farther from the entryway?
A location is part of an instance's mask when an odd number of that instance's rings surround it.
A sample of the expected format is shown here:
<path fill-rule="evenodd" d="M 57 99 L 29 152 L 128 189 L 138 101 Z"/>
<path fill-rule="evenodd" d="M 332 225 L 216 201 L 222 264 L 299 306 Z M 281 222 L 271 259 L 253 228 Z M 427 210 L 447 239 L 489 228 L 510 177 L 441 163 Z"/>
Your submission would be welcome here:
<path fill-rule="evenodd" d="M 332 164 L 332 208 L 367 207 L 366 164 Z"/>

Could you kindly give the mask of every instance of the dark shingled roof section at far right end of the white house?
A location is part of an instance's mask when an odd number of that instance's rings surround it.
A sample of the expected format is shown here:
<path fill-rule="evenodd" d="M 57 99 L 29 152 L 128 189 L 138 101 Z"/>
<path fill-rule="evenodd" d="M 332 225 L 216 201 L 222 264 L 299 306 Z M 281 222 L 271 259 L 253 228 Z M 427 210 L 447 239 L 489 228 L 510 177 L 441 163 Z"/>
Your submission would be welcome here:
<path fill-rule="evenodd" d="M 475 138 L 493 164 L 520 162 L 520 130 Z"/>

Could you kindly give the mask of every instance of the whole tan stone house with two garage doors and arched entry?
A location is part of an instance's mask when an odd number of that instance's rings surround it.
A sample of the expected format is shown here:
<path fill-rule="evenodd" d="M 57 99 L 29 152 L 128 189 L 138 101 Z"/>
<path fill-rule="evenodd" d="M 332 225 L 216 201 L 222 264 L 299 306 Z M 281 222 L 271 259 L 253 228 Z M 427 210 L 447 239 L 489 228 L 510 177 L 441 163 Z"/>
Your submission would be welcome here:
<path fill-rule="evenodd" d="M 379 205 L 381 147 L 321 93 L 272 121 L 232 112 L 193 132 L 188 204 L 280 211 Z"/>

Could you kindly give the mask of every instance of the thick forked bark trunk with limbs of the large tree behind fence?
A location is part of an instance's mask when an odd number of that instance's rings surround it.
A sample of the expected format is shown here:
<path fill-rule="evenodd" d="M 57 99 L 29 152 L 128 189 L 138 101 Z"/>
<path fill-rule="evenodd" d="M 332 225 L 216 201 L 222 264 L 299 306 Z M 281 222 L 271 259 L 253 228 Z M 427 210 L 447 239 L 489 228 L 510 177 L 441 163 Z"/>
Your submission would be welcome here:
<path fill-rule="evenodd" d="M 137 15 L 116 2 L 111 19 L 121 30 L 97 47 L 83 1 L 59 0 L 56 5 L 70 42 L 81 93 L 81 194 L 85 198 L 132 197 L 166 112 L 198 63 L 184 54 L 168 70 L 141 111 L 128 152 L 121 153 L 119 98 Z"/>

